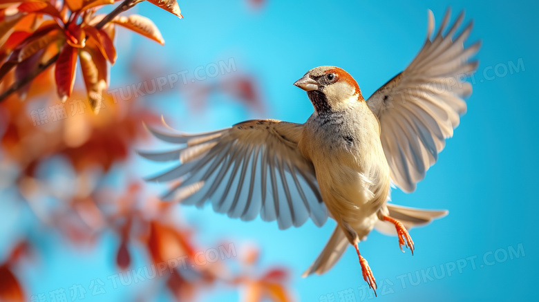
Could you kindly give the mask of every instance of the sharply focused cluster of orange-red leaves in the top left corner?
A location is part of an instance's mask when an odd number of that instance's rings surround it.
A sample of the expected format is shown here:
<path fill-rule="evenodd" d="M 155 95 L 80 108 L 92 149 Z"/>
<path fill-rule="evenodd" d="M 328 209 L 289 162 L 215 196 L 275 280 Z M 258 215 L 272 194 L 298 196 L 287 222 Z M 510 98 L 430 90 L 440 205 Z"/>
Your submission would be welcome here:
<path fill-rule="evenodd" d="M 15 86 L 31 80 L 44 68 L 55 64 L 55 82 L 59 98 L 65 102 L 73 92 L 77 57 L 92 110 L 99 110 L 108 88 L 109 64 L 116 61 L 113 44 L 115 26 L 124 26 L 164 45 L 159 29 L 140 15 L 118 16 L 142 0 L 125 0 L 108 15 L 96 15 L 97 9 L 114 0 L 3 0 L 0 6 L 0 79 L 15 69 Z M 164 10 L 182 17 L 176 0 L 149 0 Z M 8 32 L 10 34 L 8 35 Z M 3 79 L 3 83 L 6 83 Z"/>

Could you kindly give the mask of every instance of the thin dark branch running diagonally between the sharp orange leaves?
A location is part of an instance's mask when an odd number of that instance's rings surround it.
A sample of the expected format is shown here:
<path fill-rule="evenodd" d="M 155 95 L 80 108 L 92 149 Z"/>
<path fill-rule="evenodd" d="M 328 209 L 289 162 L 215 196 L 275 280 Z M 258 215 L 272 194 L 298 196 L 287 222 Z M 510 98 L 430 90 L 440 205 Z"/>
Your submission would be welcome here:
<path fill-rule="evenodd" d="M 95 28 L 101 29 L 103 26 L 106 25 L 106 23 L 110 22 L 114 17 L 117 15 L 120 15 L 120 12 L 124 12 L 126 10 L 129 10 L 129 8 L 132 8 L 135 6 L 135 4 L 141 2 L 141 0 L 125 0 L 122 2 L 119 6 L 117 6 L 112 12 L 108 13 L 99 23 L 95 25 Z M 26 75 L 26 77 L 23 77 L 19 82 L 13 83 L 10 88 L 8 88 L 6 91 L 0 94 L 0 102 L 3 100 L 6 100 L 8 96 L 10 96 L 12 93 L 15 93 L 15 91 L 18 91 L 21 87 L 25 86 L 26 84 L 32 82 L 32 79 L 35 79 L 37 75 L 44 72 L 47 68 L 49 68 L 51 65 L 55 64 L 56 60 L 59 57 L 59 53 L 57 53 L 54 57 L 51 57 L 47 62 L 44 64 L 39 64 L 35 70 L 33 70 L 31 73 Z"/>

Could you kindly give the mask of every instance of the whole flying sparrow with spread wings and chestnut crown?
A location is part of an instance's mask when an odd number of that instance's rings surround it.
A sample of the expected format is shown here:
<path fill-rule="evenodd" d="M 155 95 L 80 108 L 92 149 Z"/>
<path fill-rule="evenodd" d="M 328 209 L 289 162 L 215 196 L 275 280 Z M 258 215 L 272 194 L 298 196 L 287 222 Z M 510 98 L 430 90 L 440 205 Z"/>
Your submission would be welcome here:
<path fill-rule="evenodd" d="M 473 22 L 456 35 L 464 12 L 448 27 L 450 17 L 448 9 L 433 36 L 428 10 L 419 53 L 368 99 L 342 68 L 308 70 L 294 83 L 313 106 L 303 124 L 248 120 L 198 134 L 176 131 L 164 120 L 164 129 L 146 126 L 156 138 L 180 144 L 170 151 L 138 151 L 156 162 L 179 162 L 146 180 L 178 180 L 162 200 L 196 207 L 209 202 L 231 218 L 276 220 L 279 229 L 300 227 L 309 218 L 321 227 L 332 218 L 337 225 L 303 276 L 328 272 L 352 245 L 363 279 L 376 294 L 359 243 L 376 228 L 396 234 L 401 250 L 413 254 L 408 230 L 448 213 L 395 205 L 390 190 L 415 191 L 466 112 L 464 98 L 472 91 L 466 75 L 477 69 L 471 57 L 480 41 L 464 46 Z"/>

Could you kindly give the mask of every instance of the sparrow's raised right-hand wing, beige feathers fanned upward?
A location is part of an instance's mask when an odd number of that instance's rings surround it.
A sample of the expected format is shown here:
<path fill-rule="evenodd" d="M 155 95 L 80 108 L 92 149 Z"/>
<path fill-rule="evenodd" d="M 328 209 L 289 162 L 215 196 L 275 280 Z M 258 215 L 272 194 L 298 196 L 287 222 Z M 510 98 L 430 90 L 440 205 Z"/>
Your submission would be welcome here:
<path fill-rule="evenodd" d="M 469 62 L 469 57 L 477 53 L 480 43 L 464 47 L 472 23 L 455 37 L 464 18 L 462 13 L 444 35 L 449 15 L 448 10 L 431 39 L 434 17 L 428 11 L 423 48 L 403 72 L 367 100 L 380 121 L 381 144 L 393 183 L 407 192 L 415 190 L 416 183 L 436 162 L 445 139 L 453 135 L 460 115 L 466 112 L 462 98 L 472 91 L 465 78 L 477 68 L 477 62 Z"/>

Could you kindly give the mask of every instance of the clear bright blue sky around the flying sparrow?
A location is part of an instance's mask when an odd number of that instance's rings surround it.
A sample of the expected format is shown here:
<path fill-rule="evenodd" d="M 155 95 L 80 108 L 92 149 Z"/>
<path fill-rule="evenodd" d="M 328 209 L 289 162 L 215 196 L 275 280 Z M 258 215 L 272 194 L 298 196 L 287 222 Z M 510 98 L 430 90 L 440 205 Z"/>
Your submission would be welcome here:
<path fill-rule="evenodd" d="M 215 95 L 208 111 L 193 114 L 187 111 L 185 99 L 173 93 L 151 97 L 155 111 L 164 113 L 170 124 L 183 131 L 207 131 L 260 117 L 304 122 L 312 105 L 292 83 L 307 70 L 340 66 L 357 79 L 368 97 L 416 55 L 426 35 L 428 8 L 433 10 L 437 26 L 448 6 L 453 8 L 453 18 L 466 10 L 466 20 L 475 22 L 469 42 L 481 39 L 483 43 L 477 55 L 480 66 L 473 94 L 467 100 L 468 112 L 417 191 L 393 191 L 393 202 L 399 205 L 448 209 L 450 214 L 411 232 L 416 244 L 414 256 L 399 251 L 397 238 L 376 232 L 361 243 L 361 251 L 379 285 L 382 280 L 386 284 L 375 301 L 531 300 L 537 296 L 532 289 L 539 267 L 535 189 L 539 168 L 538 4 L 367 2 L 268 0 L 262 10 L 254 11 L 244 1 L 180 1 L 185 16 L 181 20 L 142 3 L 138 12 L 155 21 L 166 44 L 159 46 L 131 34 L 120 37 L 122 46 L 118 46 L 120 57 L 113 66 L 112 86 L 131 83 L 124 69 L 132 58 L 126 55 L 130 50 L 144 54 L 146 64 L 164 66 L 170 73 L 189 70 L 192 74 L 197 66 L 234 58 L 237 73 L 258 78 L 265 115 Z M 518 72 L 513 69 L 515 72 L 509 73 L 511 64 L 519 66 Z M 144 160 L 136 162 L 141 176 L 160 169 Z M 328 274 L 301 278 L 325 245 L 333 221 L 321 228 L 308 222 L 299 229 L 279 231 L 275 223 L 230 220 L 209 207 L 202 211 L 182 207 L 181 211 L 187 220 L 201 226 L 207 243 L 221 237 L 237 242 L 252 240 L 263 249 L 263 265 L 292 267 L 292 287 L 301 301 L 323 301 L 328 294 L 339 301 L 339 292 L 348 288 L 356 301 L 361 300 L 358 287 L 365 282 L 352 247 Z M 41 280 L 36 272 L 30 278 L 30 290 L 48 292 L 73 283 L 73 279 L 77 283 L 87 283 L 96 276 L 106 279 L 114 273 L 111 263 L 104 260 L 114 249 L 109 242 L 104 240 L 94 254 L 74 256 L 72 251 L 51 249 L 44 258 L 48 263 L 44 270 L 50 277 Z M 475 261 L 475 270 L 471 261 Z M 74 264 L 82 265 L 82 270 L 73 272 Z M 432 267 L 436 267 L 438 278 Z M 421 278 L 419 284 L 416 274 Z M 133 290 L 126 288 L 84 301 L 117 301 Z M 238 300 L 233 291 L 225 294 L 206 299 Z"/>

